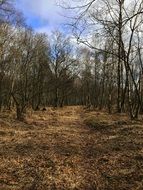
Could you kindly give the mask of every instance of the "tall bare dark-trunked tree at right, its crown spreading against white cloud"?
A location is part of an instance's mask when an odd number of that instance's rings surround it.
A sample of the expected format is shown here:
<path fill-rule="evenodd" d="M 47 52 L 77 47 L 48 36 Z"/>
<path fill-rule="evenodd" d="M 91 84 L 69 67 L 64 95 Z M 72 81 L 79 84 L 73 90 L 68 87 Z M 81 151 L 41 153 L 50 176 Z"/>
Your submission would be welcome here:
<path fill-rule="evenodd" d="M 85 44 L 91 49 L 105 52 L 110 57 L 116 57 L 117 61 L 117 111 L 124 108 L 127 97 L 127 107 L 131 118 L 136 118 L 141 106 L 141 96 L 137 81 L 132 70 L 132 51 L 136 51 L 136 32 L 142 28 L 143 2 L 126 0 L 91 0 L 88 2 L 78 1 L 74 6 L 67 6 L 73 15 L 70 27 L 78 42 Z M 130 8 L 129 8 L 130 7 Z M 94 43 L 99 38 L 99 43 Z M 112 49 L 104 48 L 107 39 L 112 41 Z M 92 40 L 91 40 L 92 39 Z M 97 41 L 97 40 L 96 40 Z M 136 45 L 135 45 L 136 44 Z M 133 50 L 134 49 L 134 50 Z M 135 53 L 134 53 L 135 55 Z M 131 80 L 131 82 L 129 81 Z M 133 93 L 130 94 L 129 83 L 132 83 Z M 134 109 L 131 107 L 130 96 L 136 96 L 137 102 Z M 134 110 L 134 111 L 133 111 Z M 134 112 L 134 113 L 133 113 Z"/>

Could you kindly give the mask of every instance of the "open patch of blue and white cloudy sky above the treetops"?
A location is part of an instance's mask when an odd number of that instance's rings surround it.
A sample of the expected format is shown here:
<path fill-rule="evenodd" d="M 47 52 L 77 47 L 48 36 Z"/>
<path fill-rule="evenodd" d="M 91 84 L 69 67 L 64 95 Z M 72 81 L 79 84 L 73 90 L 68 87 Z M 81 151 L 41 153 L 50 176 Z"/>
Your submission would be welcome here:
<path fill-rule="evenodd" d="M 57 0 L 16 0 L 16 7 L 22 11 L 26 23 L 37 32 L 50 33 L 54 29 L 64 30 L 64 10 L 57 6 Z"/>

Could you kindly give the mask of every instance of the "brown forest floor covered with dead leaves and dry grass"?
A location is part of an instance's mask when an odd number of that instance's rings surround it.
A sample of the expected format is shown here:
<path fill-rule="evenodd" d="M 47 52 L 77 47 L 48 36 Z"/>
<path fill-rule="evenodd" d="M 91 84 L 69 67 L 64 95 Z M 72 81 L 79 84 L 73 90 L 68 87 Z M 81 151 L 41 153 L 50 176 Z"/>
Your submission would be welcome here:
<path fill-rule="evenodd" d="M 0 115 L 0 190 L 142 190 L 143 124 L 81 107 Z"/>

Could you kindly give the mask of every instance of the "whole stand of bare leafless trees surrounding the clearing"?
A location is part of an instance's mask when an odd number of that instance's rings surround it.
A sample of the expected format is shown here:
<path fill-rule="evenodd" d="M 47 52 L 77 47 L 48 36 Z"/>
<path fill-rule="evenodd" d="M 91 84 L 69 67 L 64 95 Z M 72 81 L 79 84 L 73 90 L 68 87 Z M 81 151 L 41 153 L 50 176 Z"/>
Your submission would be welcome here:
<path fill-rule="evenodd" d="M 47 36 L 35 33 L 9 1 L 2 1 L 0 109 L 15 106 L 21 119 L 27 107 L 83 105 L 138 118 L 143 111 L 142 1 L 130 8 L 124 1 L 111 3 L 101 1 L 96 9 L 96 1 L 77 5 L 73 36 L 58 30 Z"/>

